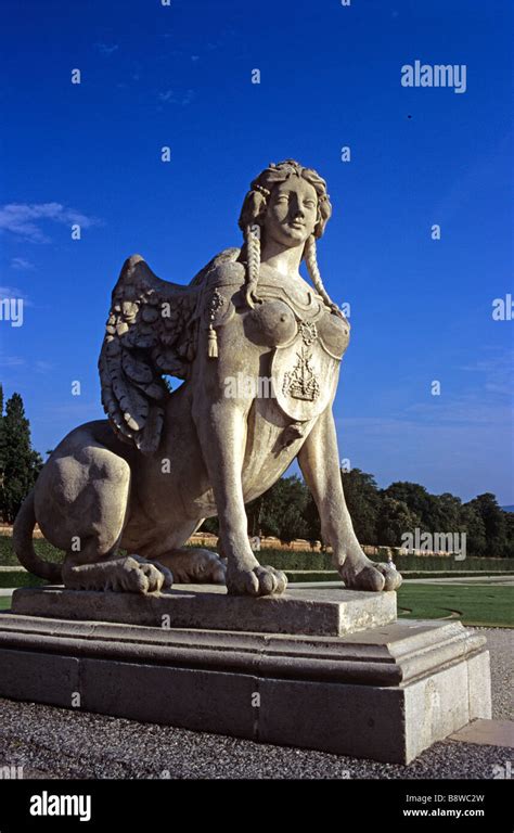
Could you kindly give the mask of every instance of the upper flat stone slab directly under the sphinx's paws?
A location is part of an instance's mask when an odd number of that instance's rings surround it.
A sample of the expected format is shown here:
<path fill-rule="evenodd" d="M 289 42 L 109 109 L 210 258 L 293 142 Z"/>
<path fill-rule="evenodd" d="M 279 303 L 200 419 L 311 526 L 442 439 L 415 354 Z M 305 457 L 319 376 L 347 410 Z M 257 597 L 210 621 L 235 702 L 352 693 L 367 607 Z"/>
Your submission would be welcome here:
<path fill-rule="evenodd" d="M 13 613 L 83 621 L 115 621 L 171 628 L 213 628 L 264 633 L 338 637 L 396 619 L 396 593 L 345 589 L 290 590 L 278 597 L 233 597 L 219 586 L 140 595 L 20 588 Z"/>

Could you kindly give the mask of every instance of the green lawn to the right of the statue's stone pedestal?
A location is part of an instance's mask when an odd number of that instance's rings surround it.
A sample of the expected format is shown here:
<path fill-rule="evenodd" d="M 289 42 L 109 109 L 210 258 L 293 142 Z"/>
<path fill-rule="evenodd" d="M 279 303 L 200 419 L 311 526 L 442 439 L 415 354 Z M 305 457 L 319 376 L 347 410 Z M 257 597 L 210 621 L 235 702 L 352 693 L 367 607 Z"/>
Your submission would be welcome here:
<path fill-rule="evenodd" d="M 448 617 L 463 625 L 512 628 L 514 587 L 403 585 L 398 590 L 398 615 L 409 619 Z"/>

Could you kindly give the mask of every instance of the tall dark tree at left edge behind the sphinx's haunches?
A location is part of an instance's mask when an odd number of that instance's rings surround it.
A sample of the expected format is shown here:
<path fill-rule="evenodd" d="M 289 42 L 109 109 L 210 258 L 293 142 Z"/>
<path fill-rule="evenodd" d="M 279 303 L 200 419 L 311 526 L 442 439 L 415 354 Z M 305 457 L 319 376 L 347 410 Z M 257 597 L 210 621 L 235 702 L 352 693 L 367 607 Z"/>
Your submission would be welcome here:
<path fill-rule="evenodd" d="M 0 511 L 3 520 L 12 523 L 42 467 L 41 456 L 31 447 L 30 425 L 20 394 L 7 401 L 0 434 Z"/>

